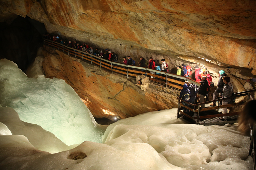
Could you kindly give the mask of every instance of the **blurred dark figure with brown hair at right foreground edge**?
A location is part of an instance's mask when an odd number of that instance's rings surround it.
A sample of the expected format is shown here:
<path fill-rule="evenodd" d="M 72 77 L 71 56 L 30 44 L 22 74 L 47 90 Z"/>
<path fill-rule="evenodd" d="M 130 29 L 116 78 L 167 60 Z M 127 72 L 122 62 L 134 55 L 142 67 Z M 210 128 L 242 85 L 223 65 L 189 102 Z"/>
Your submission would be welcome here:
<path fill-rule="evenodd" d="M 251 134 L 251 144 L 250 144 L 250 150 L 249 150 L 249 156 L 251 155 L 253 157 L 253 162 L 255 162 L 256 157 L 256 112 L 255 112 L 255 106 L 256 106 L 256 100 L 250 100 L 248 101 L 243 109 L 242 114 L 239 116 L 239 126 L 238 130 L 242 132 L 246 132 L 248 130 Z M 254 163 L 254 170 L 256 169 L 255 163 Z"/>

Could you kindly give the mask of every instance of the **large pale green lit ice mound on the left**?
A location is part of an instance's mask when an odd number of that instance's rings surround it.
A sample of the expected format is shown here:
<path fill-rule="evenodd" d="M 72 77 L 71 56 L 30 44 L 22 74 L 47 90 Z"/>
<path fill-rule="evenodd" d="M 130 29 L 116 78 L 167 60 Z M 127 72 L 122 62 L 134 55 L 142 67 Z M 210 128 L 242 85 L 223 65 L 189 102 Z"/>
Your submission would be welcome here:
<path fill-rule="evenodd" d="M 76 92 L 62 79 L 28 78 L 15 63 L 0 60 L 0 105 L 11 107 L 22 121 L 37 124 L 65 144 L 102 142 L 98 125 Z"/>

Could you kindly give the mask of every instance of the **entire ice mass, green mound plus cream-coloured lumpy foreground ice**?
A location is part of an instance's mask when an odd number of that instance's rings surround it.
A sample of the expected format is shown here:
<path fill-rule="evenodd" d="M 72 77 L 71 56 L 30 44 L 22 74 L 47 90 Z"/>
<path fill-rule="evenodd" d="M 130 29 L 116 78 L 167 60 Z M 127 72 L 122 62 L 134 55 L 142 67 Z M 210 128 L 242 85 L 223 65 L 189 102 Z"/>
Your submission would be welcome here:
<path fill-rule="evenodd" d="M 0 77 L 0 169 L 252 169 L 250 139 L 236 125 L 184 124 L 175 117 L 177 109 L 171 109 L 119 120 L 106 129 L 103 143 L 83 142 L 87 140 L 81 137 L 85 128 L 97 140 L 103 128 L 88 116 L 86 106 L 63 80 L 27 78 L 7 60 L 0 60 Z M 20 121 L 16 112 L 22 121 L 39 120 L 42 128 Z M 77 117 L 90 125 L 78 126 Z M 70 149 L 74 146 L 65 145 L 55 135 L 81 144 Z"/>

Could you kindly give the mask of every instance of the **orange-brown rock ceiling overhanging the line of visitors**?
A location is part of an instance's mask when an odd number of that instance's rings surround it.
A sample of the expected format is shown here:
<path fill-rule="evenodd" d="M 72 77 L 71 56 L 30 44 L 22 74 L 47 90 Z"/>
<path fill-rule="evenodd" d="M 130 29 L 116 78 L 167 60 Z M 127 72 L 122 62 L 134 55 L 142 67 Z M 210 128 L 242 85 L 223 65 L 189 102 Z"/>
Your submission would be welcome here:
<path fill-rule="evenodd" d="M 120 56 L 211 63 L 247 78 L 256 75 L 254 0 L 7 0 L 0 5 L 2 21 L 13 14 L 29 16 L 49 33 L 108 47 Z"/>

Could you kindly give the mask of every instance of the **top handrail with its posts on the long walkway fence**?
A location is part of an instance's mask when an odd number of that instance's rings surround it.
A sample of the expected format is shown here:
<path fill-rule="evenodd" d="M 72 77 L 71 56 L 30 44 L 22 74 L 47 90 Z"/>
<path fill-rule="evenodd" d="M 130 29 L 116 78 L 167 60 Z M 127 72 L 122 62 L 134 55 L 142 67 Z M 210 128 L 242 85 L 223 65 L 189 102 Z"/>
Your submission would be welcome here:
<path fill-rule="evenodd" d="M 44 39 L 44 44 L 46 44 L 45 42 L 47 42 L 48 46 L 51 45 L 51 47 L 53 47 L 53 48 L 54 48 L 54 47 L 57 48 L 59 45 L 61 45 L 62 48 L 63 48 L 63 51 L 64 51 L 65 48 L 67 49 L 68 55 L 71 55 L 71 51 L 72 51 L 72 53 L 75 54 L 75 57 L 80 57 L 79 54 L 76 53 L 76 52 L 79 52 L 79 53 L 81 53 L 81 58 L 82 58 L 82 60 L 84 59 L 84 57 L 90 56 L 91 63 L 92 63 L 92 60 L 93 60 L 92 57 L 97 58 L 97 59 L 99 59 L 100 67 L 102 66 L 101 61 L 107 62 L 107 63 L 109 63 L 109 64 L 111 65 L 111 71 L 112 71 L 112 73 L 113 73 L 113 64 L 115 64 L 115 65 L 119 65 L 119 66 L 126 67 L 127 69 L 129 69 L 129 68 L 135 68 L 135 69 L 139 69 L 139 70 L 145 70 L 145 74 L 146 74 L 146 75 L 147 75 L 147 71 L 152 71 L 152 72 L 154 72 L 154 73 L 160 73 L 160 74 L 162 74 L 162 75 L 165 75 L 165 76 L 163 77 L 163 80 L 166 81 L 165 86 L 167 86 L 167 76 L 174 77 L 174 78 L 179 78 L 179 79 L 185 80 L 185 81 L 189 80 L 189 81 L 190 81 L 191 83 L 193 83 L 193 84 L 196 84 L 196 85 L 198 85 L 198 86 L 200 85 L 200 83 L 198 83 L 198 82 L 192 80 L 192 79 L 189 78 L 189 77 L 179 76 L 179 75 L 172 74 L 172 73 L 166 73 L 166 72 L 164 72 L 164 71 L 154 70 L 154 69 L 150 69 L 150 68 L 146 68 L 146 67 L 140 67 L 140 66 L 134 66 L 134 65 L 127 65 L 127 64 L 122 64 L 122 63 L 114 62 L 114 61 L 109 61 L 109 60 L 103 59 L 103 58 L 101 58 L 101 57 L 98 57 L 98 56 L 95 56 L 95 55 L 86 53 L 86 52 L 81 51 L 81 50 L 78 50 L 78 49 L 74 49 L 74 48 L 68 47 L 68 46 L 66 46 L 66 45 L 64 45 L 64 44 L 61 44 L 61 43 L 58 43 L 58 42 L 54 42 L 54 41 L 51 41 L 51 40 L 48 40 L 48 39 Z M 55 44 L 57 47 L 54 46 L 54 44 Z M 58 48 L 58 49 L 59 49 L 59 48 Z M 133 70 L 129 70 L 129 72 L 133 72 Z M 128 73 L 128 70 L 127 70 L 127 78 L 128 78 L 128 75 L 129 75 L 129 73 Z M 177 81 L 178 81 L 178 80 L 177 80 Z M 182 82 L 182 81 L 179 81 L 179 82 Z M 182 82 L 182 83 L 183 83 L 183 82 Z"/>

